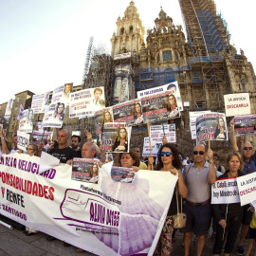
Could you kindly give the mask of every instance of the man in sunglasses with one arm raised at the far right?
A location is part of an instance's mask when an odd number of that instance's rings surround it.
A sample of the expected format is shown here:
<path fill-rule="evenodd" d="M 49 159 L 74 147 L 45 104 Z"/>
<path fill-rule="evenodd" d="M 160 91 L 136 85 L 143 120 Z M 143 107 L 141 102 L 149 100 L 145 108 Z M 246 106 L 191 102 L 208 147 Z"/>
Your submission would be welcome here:
<path fill-rule="evenodd" d="M 231 144 L 233 151 L 239 152 L 236 137 L 234 135 L 234 119 L 230 121 L 231 127 Z M 241 137 L 243 138 L 243 137 Z M 243 139 L 244 140 L 244 139 Z M 243 141 L 242 140 L 242 141 Z M 240 154 L 243 156 L 244 160 L 244 169 L 242 170 L 243 174 L 252 174 L 256 172 L 256 152 L 253 151 L 253 146 L 250 142 L 246 142 L 242 145 L 242 149 Z M 252 212 L 249 209 L 249 205 L 244 208 L 244 214 L 242 219 L 242 229 L 240 233 L 240 240 L 237 246 L 237 254 L 243 255 L 244 254 L 244 241 L 247 237 L 248 227 L 252 218 Z"/>

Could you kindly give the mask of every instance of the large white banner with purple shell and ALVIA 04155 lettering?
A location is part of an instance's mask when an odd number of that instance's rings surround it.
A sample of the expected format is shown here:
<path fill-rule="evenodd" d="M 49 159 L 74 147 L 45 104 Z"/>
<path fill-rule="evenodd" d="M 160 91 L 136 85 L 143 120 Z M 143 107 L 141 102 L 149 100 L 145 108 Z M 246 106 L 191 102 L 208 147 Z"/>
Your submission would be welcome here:
<path fill-rule="evenodd" d="M 153 255 L 176 176 L 139 171 L 133 183 L 121 183 L 100 169 L 93 184 L 72 180 L 66 164 L 40 175 L 39 162 L 0 157 L 1 214 L 97 255 Z"/>

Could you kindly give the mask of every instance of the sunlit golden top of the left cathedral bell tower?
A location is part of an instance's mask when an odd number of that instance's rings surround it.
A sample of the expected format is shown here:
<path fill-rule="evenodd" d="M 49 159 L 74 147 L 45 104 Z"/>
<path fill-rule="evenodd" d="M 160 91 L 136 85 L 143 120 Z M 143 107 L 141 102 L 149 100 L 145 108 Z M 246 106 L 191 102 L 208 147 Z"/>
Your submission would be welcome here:
<path fill-rule="evenodd" d="M 139 19 L 137 8 L 133 1 L 125 9 L 124 16 L 117 20 L 117 34 L 114 32 L 111 43 L 111 57 L 119 53 L 138 53 L 144 39 L 145 28 Z"/>

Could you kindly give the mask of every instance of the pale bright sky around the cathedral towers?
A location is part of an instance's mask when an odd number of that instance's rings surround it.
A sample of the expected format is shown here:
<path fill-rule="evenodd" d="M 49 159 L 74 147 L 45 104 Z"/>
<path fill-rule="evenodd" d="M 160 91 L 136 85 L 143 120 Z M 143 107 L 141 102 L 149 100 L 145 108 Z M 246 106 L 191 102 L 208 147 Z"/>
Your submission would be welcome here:
<path fill-rule="evenodd" d="M 135 0 L 142 24 L 154 27 L 160 6 L 183 25 L 178 0 Z M 0 103 L 15 93 L 43 93 L 66 82 L 82 83 L 90 36 L 110 50 L 116 21 L 130 1 L 0 0 Z M 229 24 L 231 42 L 256 66 L 253 0 L 216 0 Z M 3 90 L 4 89 L 4 90 Z"/>

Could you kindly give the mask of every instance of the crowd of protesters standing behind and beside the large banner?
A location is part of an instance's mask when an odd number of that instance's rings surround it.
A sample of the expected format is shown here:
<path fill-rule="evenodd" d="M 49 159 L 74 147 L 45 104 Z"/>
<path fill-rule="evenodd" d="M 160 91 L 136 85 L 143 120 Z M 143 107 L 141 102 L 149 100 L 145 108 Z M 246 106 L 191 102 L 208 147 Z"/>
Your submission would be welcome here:
<path fill-rule="evenodd" d="M 172 99 L 171 99 L 172 100 Z M 106 118 L 107 119 L 107 118 Z M 107 120 L 106 120 L 107 121 Z M 223 130 L 222 120 L 219 120 L 219 131 L 217 136 L 226 136 L 226 131 Z M 237 146 L 236 137 L 234 136 L 234 122 L 230 122 L 231 128 L 231 145 L 232 151 L 227 156 L 226 167 L 220 165 L 219 155 L 213 153 L 205 144 L 196 145 L 193 150 L 193 160 L 191 163 L 182 161 L 181 153 L 172 143 L 165 143 L 159 148 L 156 159 L 153 156 L 148 157 L 148 161 L 142 160 L 140 148 L 137 145 L 131 145 L 129 152 L 127 151 L 127 134 L 126 130 L 120 130 L 119 138 L 115 141 L 115 156 L 113 165 L 132 168 L 134 172 L 139 170 L 155 170 L 159 172 L 170 172 L 177 177 L 176 190 L 180 197 L 183 198 L 184 212 L 187 216 L 186 227 L 181 229 L 184 233 L 184 255 L 189 256 L 190 246 L 192 242 L 192 233 L 196 236 L 197 255 L 202 255 L 205 246 L 206 235 L 212 225 L 212 254 L 220 255 L 222 250 L 227 256 L 234 249 L 235 241 L 239 236 L 239 244 L 237 246 L 237 254 L 244 255 L 246 249 L 244 242 L 249 234 L 249 245 L 247 247 L 247 256 L 253 247 L 253 242 L 256 240 L 256 220 L 254 209 L 250 206 L 241 207 L 240 203 L 233 204 L 211 204 L 211 184 L 215 183 L 216 179 L 233 178 L 241 175 L 252 174 L 256 172 L 256 153 L 253 151 L 253 146 L 250 142 L 242 141 L 241 149 Z M 60 159 L 62 163 L 72 165 L 74 157 L 82 157 L 89 159 L 100 159 L 99 166 L 108 162 L 102 143 L 99 145 L 93 139 L 92 134 L 83 130 L 85 143 L 81 146 L 82 137 L 72 136 L 71 144 L 68 145 L 69 131 L 60 130 L 58 138 L 51 141 L 50 148 L 47 153 Z M 2 154 L 23 153 L 28 155 L 41 155 L 44 151 L 43 143 L 38 146 L 29 144 L 27 152 L 23 152 L 17 148 L 17 135 L 12 137 L 13 148 L 10 147 L 10 142 L 6 139 L 4 131 L 0 128 L 1 149 Z M 147 163 L 147 164 L 146 164 Z M 98 166 L 94 165 L 91 171 L 91 180 L 98 180 Z M 131 177 L 127 177 L 127 182 L 130 182 Z M 129 180 L 128 180 L 129 179 Z M 155 255 L 170 255 L 174 252 L 174 215 L 177 213 L 177 201 L 175 192 L 170 203 L 170 208 L 167 217 L 155 248 Z M 26 234 L 31 235 L 36 230 L 26 229 Z M 53 241 L 52 236 L 47 237 L 48 241 Z M 69 246 L 64 243 L 64 246 Z M 82 252 L 81 248 L 77 252 Z M 254 252 L 256 256 L 256 249 Z"/>

